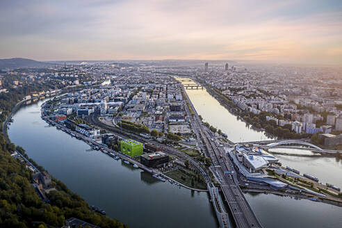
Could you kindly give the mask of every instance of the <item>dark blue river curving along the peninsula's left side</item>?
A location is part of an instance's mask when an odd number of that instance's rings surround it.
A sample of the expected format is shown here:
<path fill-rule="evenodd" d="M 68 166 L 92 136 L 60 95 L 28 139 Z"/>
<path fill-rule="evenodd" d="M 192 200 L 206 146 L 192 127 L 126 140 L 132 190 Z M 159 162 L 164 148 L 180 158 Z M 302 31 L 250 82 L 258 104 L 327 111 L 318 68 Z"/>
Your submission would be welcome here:
<path fill-rule="evenodd" d="M 90 149 L 82 140 L 49 127 L 41 120 L 41 103 L 25 106 L 15 114 L 10 139 L 24 145 L 30 157 L 90 205 L 104 209 L 109 217 L 129 227 L 218 226 L 207 193 L 158 181 L 147 172 L 115 161 Z M 154 220 L 146 219 L 151 214 Z"/>

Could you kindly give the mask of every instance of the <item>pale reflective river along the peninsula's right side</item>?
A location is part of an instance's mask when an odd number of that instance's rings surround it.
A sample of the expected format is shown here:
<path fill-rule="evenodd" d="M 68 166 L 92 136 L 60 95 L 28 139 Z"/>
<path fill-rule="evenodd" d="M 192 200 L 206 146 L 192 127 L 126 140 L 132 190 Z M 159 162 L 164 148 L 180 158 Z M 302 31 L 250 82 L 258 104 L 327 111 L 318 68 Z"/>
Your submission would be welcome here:
<path fill-rule="evenodd" d="M 229 140 L 247 142 L 270 139 L 263 131 L 255 131 L 238 120 L 238 117 L 229 113 L 205 89 L 188 89 L 186 93 L 204 121 L 221 129 Z M 299 149 L 272 149 L 270 152 L 275 152 L 274 155 L 283 165 L 314 174 L 322 183 L 342 187 L 341 159 L 318 157 L 313 152 Z M 341 227 L 342 208 L 338 206 L 261 193 L 247 193 L 245 197 L 263 227 Z"/>

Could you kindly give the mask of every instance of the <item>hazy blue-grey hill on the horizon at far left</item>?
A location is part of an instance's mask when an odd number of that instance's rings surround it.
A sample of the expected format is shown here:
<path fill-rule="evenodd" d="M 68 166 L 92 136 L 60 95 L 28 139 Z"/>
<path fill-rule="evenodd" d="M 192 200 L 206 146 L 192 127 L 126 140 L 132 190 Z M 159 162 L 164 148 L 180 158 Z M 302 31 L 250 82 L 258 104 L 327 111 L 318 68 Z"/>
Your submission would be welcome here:
<path fill-rule="evenodd" d="M 54 64 L 44 63 L 29 58 L 3 58 L 0 59 L 0 69 L 6 68 L 38 68 L 38 67 L 49 67 Z"/>

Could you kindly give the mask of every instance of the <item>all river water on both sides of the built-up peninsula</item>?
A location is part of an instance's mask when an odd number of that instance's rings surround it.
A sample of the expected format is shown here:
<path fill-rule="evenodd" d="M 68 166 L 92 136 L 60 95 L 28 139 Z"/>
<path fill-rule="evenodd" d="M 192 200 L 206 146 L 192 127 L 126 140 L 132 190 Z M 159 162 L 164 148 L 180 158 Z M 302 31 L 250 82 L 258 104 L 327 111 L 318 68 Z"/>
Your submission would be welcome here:
<path fill-rule="evenodd" d="M 236 120 L 206 90 L 187 92 L 199 115 L 227 133 L 230 140 L 267 139 L 262 132 Z M 99 206 L 108 216 L 129 227 L 218 227 L 207 193 L 193 193 L 156 181 L 141 170 L 90 150 L 85 142 L 41 120 L 40 104 L 41 101 L 21 108 L 14 115 L 8 130 L 10 140 L 24 147 L 31 158 L 90 205 Z M 337 178 L 342 173 L 341 161 L 291 155 L 279 158 L 293 168 L 341 186 L 341 178 Z M 245 197 L 266 228 L 340 227 L 342 223 L 342 209 L 337 206 L 275 195 L 246 194 Z"/>

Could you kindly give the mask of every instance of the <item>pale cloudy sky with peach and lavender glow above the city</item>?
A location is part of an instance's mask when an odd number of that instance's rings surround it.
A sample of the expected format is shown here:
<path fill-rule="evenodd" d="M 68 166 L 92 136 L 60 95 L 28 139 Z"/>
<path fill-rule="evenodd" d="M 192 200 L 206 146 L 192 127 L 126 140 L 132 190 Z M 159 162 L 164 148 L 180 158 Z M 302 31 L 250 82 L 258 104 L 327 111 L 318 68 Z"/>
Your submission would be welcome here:
<path fill-rule="evenodd" d="M 342 0 L 0 0 L 0 58 L 342 65 Z"/>

